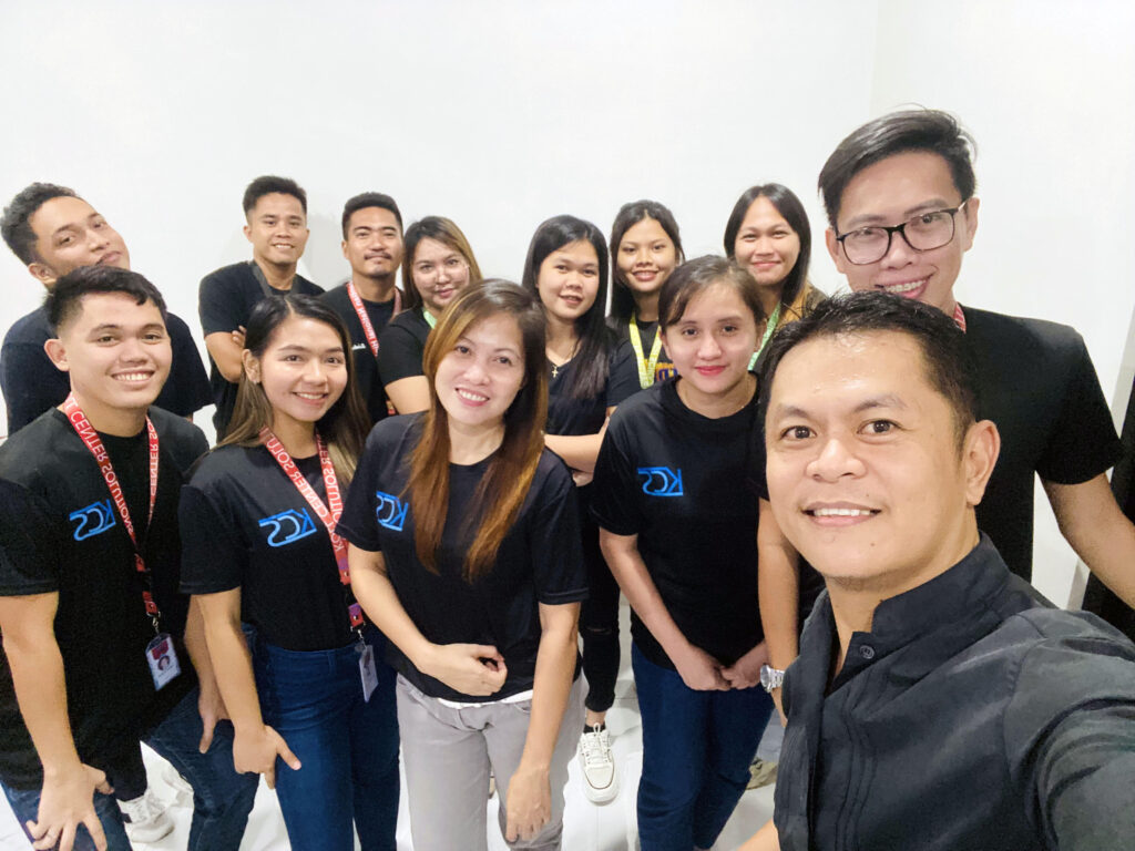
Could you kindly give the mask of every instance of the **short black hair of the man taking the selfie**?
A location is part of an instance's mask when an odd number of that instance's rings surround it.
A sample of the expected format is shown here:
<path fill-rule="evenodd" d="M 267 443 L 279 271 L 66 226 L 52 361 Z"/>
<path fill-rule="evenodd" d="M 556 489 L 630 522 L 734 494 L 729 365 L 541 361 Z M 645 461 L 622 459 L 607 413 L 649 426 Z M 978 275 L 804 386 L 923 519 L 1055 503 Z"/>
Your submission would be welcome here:
<path fill-rule="evenodd" d="M 914 338 L 923 353 L 926 381 L 949 403 L 958 445 L 977 420 L 977 391 L 965 334 L 936 307 L 889 293 L 851 293 L 825 298 L 798 322 L 784 326 L 768 344 L 760 371 L 762 416 L 776 368 L 802 343 L 859 334 L 896 332 Z"/>

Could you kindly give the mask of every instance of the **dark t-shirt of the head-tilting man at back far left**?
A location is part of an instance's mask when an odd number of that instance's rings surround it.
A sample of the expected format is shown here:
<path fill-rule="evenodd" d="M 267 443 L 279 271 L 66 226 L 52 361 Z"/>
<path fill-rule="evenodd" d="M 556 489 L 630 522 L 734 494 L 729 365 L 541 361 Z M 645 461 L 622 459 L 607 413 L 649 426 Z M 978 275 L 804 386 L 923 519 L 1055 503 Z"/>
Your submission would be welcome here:
<path fill-rule="evenodd" d="M 166 411 L 190 416 L 212 404 L 209 377 L 201 364 L 201 353 L 185 322 L 166 314 L 166 329 L 173 348 L 169 378 L 154 404 Z M 8 433 L 15 435 L 50 407 L 62 403 L 70 391 L 70 379 L 60 372 L 43 351 L 54 337 L 43 307 L 19 319 L 3 338 L 0 349 L 0 388 L 8 405 Z"/>

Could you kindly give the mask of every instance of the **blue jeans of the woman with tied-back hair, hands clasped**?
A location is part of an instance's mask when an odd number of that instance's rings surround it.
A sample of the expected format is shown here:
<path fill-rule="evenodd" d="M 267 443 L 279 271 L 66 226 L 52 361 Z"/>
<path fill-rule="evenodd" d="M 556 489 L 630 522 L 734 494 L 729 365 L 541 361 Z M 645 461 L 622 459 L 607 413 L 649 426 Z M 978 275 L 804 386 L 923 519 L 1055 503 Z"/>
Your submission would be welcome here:
<path fill-rule="evenodd" d="M 695 691 L 634 646 L 631 667 L 642 716 L 641 849 L 709 848 L 745 792 L 773 700 L 759 685 Z"/>

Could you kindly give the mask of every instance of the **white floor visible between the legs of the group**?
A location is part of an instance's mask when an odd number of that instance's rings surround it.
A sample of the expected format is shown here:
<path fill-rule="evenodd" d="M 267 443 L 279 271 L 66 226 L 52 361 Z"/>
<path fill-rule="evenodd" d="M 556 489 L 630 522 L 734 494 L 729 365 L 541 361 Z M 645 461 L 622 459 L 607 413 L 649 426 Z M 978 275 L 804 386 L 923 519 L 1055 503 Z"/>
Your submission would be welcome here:
<path fill-rule="evenodd" d="M 565 851 L 634 851 L 638 846 L 634 794 L 642 767 L 642 733 L 638 715 L 638 700 L 634 696 L 634 683 L 630 672 L 630 629 L 625 603 L 622 621 L 622 667 L 615 689 L 615 705 L 607 714 L 607 726 L 614 736 L 613 749 L 619 767 L 620 790 L 616 798 L 609 803 L 602 807 L 592 804 L 583 797 L 579 764 L 578 761 L 572 762 L 564 812 L 563 846 Z M 148 749 L 145 755 L 151 769 L 150 778 L 154 792 L 162 800 L 171 801 L 175 793 L 161 780 L 159 770 L 161 758 Z M 772 786 L 767 786 L 745 793 L 714 849 L 718 851 L 735 849 L 768 820 L 773 811 L 772 790 Z M 488 801 L 489 849 L 490 851 L 506 851 L 507 846 L 496 829 L 497 800 L 494 797 Z M 187 806 L 171 806 L 168 812 L 176 824 L 174 833 L 152 845 L 137 844 L 135 848 L 138 851 L 174 851 L 185 848 L 192 810 Z M 398 851 L 410 851 L 413 848 L 410 842 L 410 814 L 406 809 L 404 794 L 402 809 L 398 814 L 397 839 Z M 16 825 L 11 810 L 5 804 L 0 804 L 0 849 L 17 851 L 25 848 L 27 848 L 27 843 Z M 287 834 L 284 832 L 284 821 L 280 818 L 276 794 L 261 783 L 241 851 L 284 851 L 288 848 Z"/>

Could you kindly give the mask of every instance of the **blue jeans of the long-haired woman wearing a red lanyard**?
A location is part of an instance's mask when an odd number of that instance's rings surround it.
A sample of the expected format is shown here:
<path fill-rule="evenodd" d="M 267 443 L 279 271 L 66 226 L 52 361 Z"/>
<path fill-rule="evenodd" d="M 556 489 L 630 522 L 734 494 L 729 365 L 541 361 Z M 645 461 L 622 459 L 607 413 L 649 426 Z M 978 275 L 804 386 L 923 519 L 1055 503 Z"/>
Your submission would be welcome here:
<path fill-rule="evenodd" d="M 300 770 L 276 762 L 276 794 L 288 840 L 304 851 L 394 851 L 398 821 L 398 719 L 395 673 L 375 649 L 378 686 L 363 700 L 356 644 L 296 651 L 259 642 L 257 688 L 264 722 L 299 757 Z"/>

